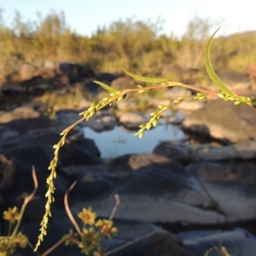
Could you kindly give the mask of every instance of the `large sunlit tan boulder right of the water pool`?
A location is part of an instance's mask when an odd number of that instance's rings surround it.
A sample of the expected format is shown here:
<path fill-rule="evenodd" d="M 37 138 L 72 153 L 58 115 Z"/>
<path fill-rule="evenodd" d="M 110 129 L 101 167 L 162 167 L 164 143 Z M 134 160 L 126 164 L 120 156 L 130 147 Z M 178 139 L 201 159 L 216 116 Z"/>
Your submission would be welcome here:
<path fill-rule="evenodd" d="M 191 113 L 183 128 L 203 135 L 226 139 L 230 142 L 247 140 L 256 136 L 256 109 L 246 104 L 212 100 L 205 108 Z"/>

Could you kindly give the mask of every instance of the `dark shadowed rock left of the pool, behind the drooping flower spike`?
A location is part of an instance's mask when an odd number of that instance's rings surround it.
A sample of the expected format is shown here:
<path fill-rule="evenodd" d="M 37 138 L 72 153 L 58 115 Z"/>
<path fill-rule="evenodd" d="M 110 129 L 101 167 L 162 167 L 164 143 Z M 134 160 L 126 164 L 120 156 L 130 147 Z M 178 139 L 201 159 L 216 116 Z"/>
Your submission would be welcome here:
<path fill-rule="evenodd" d="M 46 130 L 33 131 L 20 137 L 11 137 L 3 142 L 2 154 L 9 160 L 13 160 L 15 172 L 9 177 L 13 189 L 12 193 L 6 200 L 14 201 L 22 193 L 31 193 L 34 184 L 32 182 L 32 166 L 35 166 L 38 177 L 37 195 L 44 196 L 45 180 L 49 176 L 49 161 L 54 155 L 53 145 L 60 140 L 60 131 L 55 128 Z M 0 152 L 1 153 L 1 152 Z M 65 146 L 60 150 L 57 170 L 61 166 L 90 165 L 100 161 L 99 151 L 95 143 L 90 139 L 76 137 L 75 135 L 67 136 Z M 11 173 L 11 172 L 10 172 Z M 60 179 L 60 182 L 58 181 Z M 69 183 L 57 176 L 56 184 L 59 184 L 60 198 L 62 201 L 64 193 L 67 191 Z M 61 187 L 61 184 L 65 184 Z M 59 193 L 58 192 L 58 193 Z M 3 191 L 3 195 L 6 195 Z M 2 195 L 2 197 L 3 197 Z"/>

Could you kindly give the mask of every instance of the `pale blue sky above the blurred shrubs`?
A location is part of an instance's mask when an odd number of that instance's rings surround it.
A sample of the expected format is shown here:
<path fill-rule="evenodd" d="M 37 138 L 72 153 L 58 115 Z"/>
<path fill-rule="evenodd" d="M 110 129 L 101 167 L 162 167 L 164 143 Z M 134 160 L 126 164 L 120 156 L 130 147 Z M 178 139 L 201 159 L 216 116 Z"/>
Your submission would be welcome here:
<path fill-rule="evenodd" d="M 219 34 L 256 30 L 252 0 L 9 0 L 1 1 L 3 19 L 13 19 L 18 10 L 23 19 L 37 20 L 50 11 L 63 11 L 67 24 L 76 32 L 90 36 L 97 26 L 108 26 L 113 20 L 135 17 L 152 21 L 165 20 L 164 32 L 182 35 L 189 20 L 198 15 L 212 20 L 222 19 Z M 217 27 L 216 27 L 217 28 Z M 215 29 L 216 29 L 215 28 Z M 212 29 L 215 30 L 214 28 Z"/>

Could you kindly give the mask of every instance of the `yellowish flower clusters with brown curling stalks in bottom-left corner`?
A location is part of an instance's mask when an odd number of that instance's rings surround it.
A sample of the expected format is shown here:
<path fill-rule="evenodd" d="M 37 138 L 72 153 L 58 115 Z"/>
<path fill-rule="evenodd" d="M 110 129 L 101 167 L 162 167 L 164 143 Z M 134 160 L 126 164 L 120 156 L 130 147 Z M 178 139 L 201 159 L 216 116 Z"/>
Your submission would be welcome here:
<path fill-rule="evenodd" d="M 36 177 L 34 166 L 32 166 L 32 177 L 35 189 L 33 190 L 31 195 L 26 196 L 20 212 L 17 207 L 9 207 L 7 211 L 3 212 L 3 219 L 9 222 L 9 232 L 8 236 L 0 236 L 0 256 L 13 255 L 17 247 L 26 248 L 28 246 L 33 249 L 32 244 L 30 243 L 30 241 L 28 241 L 28 238 L 19 231 L 20 222 L 25 212 L 26 205 L 29 201 L 32 200 L 33 196 L 36 193 L 36 190 L 38 189 L 38 180 Z M 67 193 L 71 189 L 73 189 L 74 185 L 75 183 L 73 183 L 72 186 L 67 190 Z M 67 193 L 64 196 L 65 208 L 68 217 L 70 218 L 75 229 L 77 230 L 77 233 L 74 233 L 73 230 L 69 230 L 69 233 L 67 235 L 63 236 L 60 241 L 56 242 L 55 245 L 50 247 L 45 253 L 41 255 L 47 256 L 63 242 L 66 246 L 77 245 L 81 249 L 81 253 L 84 253 L 85 255 L 105 255 L 101 247 L 101 241 L 102 239 L 112 238 L 118 231 L 116 228 L 113 227 L 112 218 L 114 212 L 119 205 L 119 196 L 115 195 L 116 204 L 115 207 L 113 207 L 113 212 L 111 213 L 109 219 L 96 220 L 96 212 L 93 212 L 91 208 L 83 208 L 82 211 L 78 214 L 78 217 L 81 219 L 81 222 L 83 224 L 83 229 L 80 230 L 79 225 L 76 223 L 69 209 L 67 202 Z M 13 224 L 15 224 L 14 229 Z M 40 256 L 38 252 L 35 253 Z"/>

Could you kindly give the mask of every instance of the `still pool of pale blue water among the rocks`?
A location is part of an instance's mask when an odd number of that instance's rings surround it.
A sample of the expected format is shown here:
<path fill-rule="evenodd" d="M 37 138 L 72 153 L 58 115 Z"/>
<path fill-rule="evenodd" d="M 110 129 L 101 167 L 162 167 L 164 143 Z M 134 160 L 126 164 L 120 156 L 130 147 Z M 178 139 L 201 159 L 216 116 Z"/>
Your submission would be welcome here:
<path fill-rule="evenodd" d="M 153 152 L 160 141 L 176 141 L 184 138 L 179 126 L 171 124 L 157 125 L 145 131 L 144 137 L 134 136 L 137 131 L 127 131 L 122 126 L 115 126 L 111 131 L 96 132 L 90 127 L 84 128 L 84 137 L 95 141 L 102 158 L 114 158 L 123 154 Z"/>

